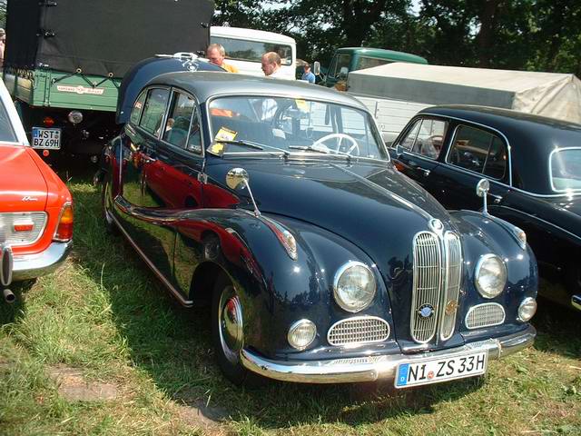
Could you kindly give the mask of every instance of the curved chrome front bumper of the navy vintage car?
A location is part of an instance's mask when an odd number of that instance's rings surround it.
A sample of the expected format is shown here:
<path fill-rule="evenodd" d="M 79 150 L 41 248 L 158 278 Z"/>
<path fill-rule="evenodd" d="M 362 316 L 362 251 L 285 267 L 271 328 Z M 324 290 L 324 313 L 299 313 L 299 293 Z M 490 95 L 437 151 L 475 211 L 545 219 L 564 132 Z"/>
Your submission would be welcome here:
<path fill-rule="evenodd" d="M 274 362 L 259 355 L 241 351 L 242 365 L 264 377 L 281 381 L 302 383 L 340 383 L 354 381 L 394 380 L 399 363 L 417 362 L 426 358 L 454 357 L 467 352 L 487 351 L 488 360 L 499 359 L 513 352 L 518 352 L 535 341 L 537 330 L 529 325 L 526 330 L 472 342 L 462 347 L 438 352 L 421 352 L 418 354 L 390 354 L 368 357 L 354 357 L 332 361 L 313 362 Z"/>

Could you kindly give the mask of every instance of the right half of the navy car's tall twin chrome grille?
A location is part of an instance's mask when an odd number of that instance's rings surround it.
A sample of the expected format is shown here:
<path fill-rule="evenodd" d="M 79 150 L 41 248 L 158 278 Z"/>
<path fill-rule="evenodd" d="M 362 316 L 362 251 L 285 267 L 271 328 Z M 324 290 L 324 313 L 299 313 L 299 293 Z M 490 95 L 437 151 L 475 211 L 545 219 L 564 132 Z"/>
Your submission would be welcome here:
<path fill-rule="evenodd" d="M 444 235 L 444 247 L 446 250 L 446 292 L 441 308 L 440 338 L 446 341 L 454 333 L 458 313 L 458 298 L 462 277 L 462 246 L 458 235 L 447 232 Z M 449 307 L 448 304 L 450 304 Z"/>

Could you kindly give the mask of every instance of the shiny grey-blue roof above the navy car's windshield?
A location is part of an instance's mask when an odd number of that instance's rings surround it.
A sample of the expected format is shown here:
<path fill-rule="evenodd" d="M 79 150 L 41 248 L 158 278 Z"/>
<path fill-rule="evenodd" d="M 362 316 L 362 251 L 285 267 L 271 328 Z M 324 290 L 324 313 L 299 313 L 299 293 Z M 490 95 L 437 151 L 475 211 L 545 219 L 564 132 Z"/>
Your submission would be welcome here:
<path fill-rule="evenodd" d="M 305 100 L 348 104 L 367 111 L 366 107 L 348 94 L 337 90 L 294 80 L 272 79 L 246 74 L 218 72 L 178 72 L 160 74 L 148 85 L 164 84 L 182 88 L 195 95 L 200 103 L 223 94 L 263 94 Z"/>

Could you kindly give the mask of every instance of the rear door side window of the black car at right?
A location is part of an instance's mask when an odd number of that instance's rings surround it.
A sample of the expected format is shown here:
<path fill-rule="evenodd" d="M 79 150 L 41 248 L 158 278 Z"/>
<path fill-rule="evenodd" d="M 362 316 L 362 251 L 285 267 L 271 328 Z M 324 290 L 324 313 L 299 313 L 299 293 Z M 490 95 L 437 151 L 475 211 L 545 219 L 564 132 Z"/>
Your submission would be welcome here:
<path fill-rule="evenodd" d="M 496 134 L 460 125 L 450 147 L 448 163 L 502 179 L 507 169 L 507 147 Z"/>

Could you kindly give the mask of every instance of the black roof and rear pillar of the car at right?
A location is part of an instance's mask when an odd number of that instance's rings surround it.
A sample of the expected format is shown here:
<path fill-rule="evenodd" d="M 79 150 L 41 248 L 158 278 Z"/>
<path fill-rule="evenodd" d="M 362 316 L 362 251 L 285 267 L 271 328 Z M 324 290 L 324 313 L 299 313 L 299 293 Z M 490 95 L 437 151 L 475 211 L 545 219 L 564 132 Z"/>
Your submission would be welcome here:
<path fill-rule="evenodd" d="M 449 104 L 422 109 L 434 114 L 488 126 L 510 144 L 513 185 L 530 193 L 555 193 L 550 187 L 548 155 L 581 146 L 581 124 L 487 106 Z"/>

